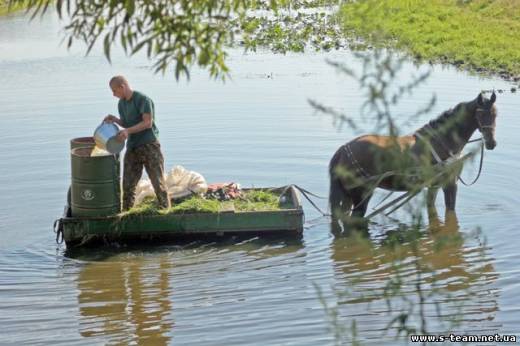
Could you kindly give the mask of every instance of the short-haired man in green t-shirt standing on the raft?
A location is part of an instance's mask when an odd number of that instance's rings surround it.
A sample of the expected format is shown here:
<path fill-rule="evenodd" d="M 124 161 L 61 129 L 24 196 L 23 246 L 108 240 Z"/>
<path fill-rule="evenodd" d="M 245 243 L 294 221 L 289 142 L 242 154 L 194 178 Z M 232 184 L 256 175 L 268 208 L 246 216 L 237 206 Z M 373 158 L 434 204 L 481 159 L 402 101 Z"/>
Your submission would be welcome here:
<path fill-rule="evenodd" d="M 170 207 L 170 198 L 164 180 L 164 157 L 159 144 L 159 130 L 155 125 L 153 101 L 143 93 L 132 90 L 123 76 L 110 80 L 110 89 L 119 99 L 119 118 L 107 115 L 106 122 L 115 122 L 123 129 L 118 139 L 126 143 L 123 168 L 123 210 L 132 208 L 135 189 L 143 174 L 143 167 L 152 182 L 159 206 Z"/>

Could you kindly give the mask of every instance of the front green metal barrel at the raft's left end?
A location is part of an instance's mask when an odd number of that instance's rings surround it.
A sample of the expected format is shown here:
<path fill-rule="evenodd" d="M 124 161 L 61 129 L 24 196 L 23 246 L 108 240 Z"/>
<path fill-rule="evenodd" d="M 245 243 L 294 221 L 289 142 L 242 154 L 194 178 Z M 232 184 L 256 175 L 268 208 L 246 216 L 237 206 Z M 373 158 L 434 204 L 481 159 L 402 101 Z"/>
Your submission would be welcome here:
<path fill-rule="evenodd" d="M 94 156 L 92 148 L 71 150 L 71 214 L 73 217 L 114 215 L 121 211 L 119 160 Z"/>

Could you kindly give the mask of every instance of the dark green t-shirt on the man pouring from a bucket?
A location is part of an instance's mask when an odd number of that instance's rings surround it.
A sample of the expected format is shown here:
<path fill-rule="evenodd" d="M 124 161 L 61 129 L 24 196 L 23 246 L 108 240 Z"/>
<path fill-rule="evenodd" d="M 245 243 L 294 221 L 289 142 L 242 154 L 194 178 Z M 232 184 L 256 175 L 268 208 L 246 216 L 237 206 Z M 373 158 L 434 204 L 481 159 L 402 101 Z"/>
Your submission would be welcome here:
<path fill-rule="evenodd" d="M 159 130 L 155 126 L 155 107 L 151 98 L 134 90 L 129 101 L 125 99 L 119 100 L 118 109 L 123 127 L 125 128 L 132 127 L 143 121 L 143 113 L 152 115 L 152 128 L 128 136 L 126 141 L 127 149 L 133 149 L 159 139 Z"/>

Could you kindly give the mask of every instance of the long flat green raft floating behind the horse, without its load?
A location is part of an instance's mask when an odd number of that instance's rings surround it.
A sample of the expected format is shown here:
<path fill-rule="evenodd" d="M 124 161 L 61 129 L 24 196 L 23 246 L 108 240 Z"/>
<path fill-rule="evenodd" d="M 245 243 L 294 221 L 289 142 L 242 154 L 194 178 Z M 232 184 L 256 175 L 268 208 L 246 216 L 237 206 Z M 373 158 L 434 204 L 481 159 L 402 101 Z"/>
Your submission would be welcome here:
<path fill-rule="evenodd" d="M 213 239 L 224 236 L 272 236 L 300 234 L 304 214 L 300 194 L 290 185 L 263 190 L 279 196 L 279 209 L 266 211 L 182 212 L 166 214 L 125 214 L 102 217 L 72 217 L 70 206 L 55 223 L 57 240 L 67 248 L 86 245 L 142 242 L 150 240 Z"/>

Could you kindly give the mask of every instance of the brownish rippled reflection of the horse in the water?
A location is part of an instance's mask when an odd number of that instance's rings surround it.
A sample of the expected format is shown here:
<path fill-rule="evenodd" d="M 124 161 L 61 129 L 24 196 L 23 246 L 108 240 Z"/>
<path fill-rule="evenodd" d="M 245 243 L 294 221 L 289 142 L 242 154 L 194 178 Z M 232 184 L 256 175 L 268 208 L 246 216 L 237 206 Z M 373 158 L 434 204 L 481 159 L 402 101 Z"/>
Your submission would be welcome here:
<path fill-rule="evenodd" d="M 335 275 L 341 278 L 336 288 L 338 312 L 358 322 L 370 319 L 370 325 L 357 325 L 358 332 L 365 329 L 372 335 L 381 335 L 392 316 L 410 302 L 416 305 L 416 316 L 410 316 L 414 318 L 409 321 L 415 327 L 420 327 L 422 311 L 427 315 L 427 326 L 435 331 L 453 327 L 449 320 L 456 317 L 464 330 L 498 331 L 498 325 L 490 322 L 498 311 L 498 294 L 492 286 L 498 275 L 489 256 L 491 249 L 478 235 L 474 244 L 468 233 L 460 231 L 454 212 L 448 213 L 443 223 L 434 211 L 429 214 L 428 226 L 420 230 L 399 227 L 373 237 L 367 229 L 336 234 L 331 253 Z M 396 273 L 401 280 L 399 293 L 389 285 Z M 420 295 L 426 299 L 423 309 L 418 306 Z M 403 304 L 403 296 L 408 303 Z"/>

